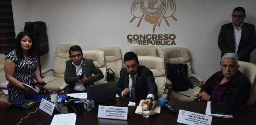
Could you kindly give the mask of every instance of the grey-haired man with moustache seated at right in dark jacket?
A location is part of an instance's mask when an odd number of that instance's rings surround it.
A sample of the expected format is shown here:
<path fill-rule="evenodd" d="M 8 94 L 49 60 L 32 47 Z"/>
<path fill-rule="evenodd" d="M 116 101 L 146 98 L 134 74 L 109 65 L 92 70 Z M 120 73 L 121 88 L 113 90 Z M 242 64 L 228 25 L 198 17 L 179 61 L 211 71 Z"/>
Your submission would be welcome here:
<path fill-rule="evenodd" d="M 221 58 L 221 71 L 213 74 L 197 93 L 199 100 L 245 104 L 250 96 L 251 83 L 241 73 L 234 53 Z"/>

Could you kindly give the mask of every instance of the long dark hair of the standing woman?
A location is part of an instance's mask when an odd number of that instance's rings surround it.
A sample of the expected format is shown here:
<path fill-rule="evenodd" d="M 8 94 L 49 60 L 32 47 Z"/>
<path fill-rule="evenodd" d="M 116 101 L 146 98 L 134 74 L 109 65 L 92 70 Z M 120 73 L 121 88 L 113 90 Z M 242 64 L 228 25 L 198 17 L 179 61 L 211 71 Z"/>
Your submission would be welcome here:
<path fill-rule="evenodd" d="M 22 60 L 24 58 L 22 48 L 21 48 L 21 39 L 25 36 L 28 36 L 32 40 L 32 45 L 31 45 L 30 49 L 28 50 L 28 55 L 37 59 L 37 57 L 35 55 L 35 49 L 34 49 L 35 43 L 33 43 L 33 39 L 31 37 L 31 35 L 25 31 L 20 32 L 19 34 L 17 34 L 17 37 L 16 37 L 15 53 L 16 53 L 17 58 L 19 60 Z"/>

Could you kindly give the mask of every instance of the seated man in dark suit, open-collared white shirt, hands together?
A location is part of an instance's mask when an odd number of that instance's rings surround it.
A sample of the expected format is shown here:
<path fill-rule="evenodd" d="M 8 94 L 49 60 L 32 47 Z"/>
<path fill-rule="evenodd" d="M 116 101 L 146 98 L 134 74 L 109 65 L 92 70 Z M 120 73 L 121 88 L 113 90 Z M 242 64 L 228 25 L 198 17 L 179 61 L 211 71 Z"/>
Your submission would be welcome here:
<path fill-rule="evenodd" d="M 64 80 L 69 84 L 69 93 L 85 92 L 87 86 L 93 85 L 104 77 L 93 60 L 83 58 L 80 46 L 73 45 L 69 49 L 70 60 L 66 61 Z M 95 74 L 92 76 L 92 74 Z"/>

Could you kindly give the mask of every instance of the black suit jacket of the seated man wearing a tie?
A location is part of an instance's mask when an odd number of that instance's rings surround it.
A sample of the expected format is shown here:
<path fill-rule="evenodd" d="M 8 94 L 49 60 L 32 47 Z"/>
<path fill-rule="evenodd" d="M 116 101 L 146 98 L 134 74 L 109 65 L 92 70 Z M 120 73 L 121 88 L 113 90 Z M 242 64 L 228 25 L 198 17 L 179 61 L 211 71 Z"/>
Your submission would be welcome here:
<path fill-rule="evenodd" d="M 120 71 L 120 79 L 117 83 L 117 93 L 122 96 L 122 91 L 125 88 L 129 88 L 129 73 L 126 68 L 122 68 Z M 158 87 L 155 82 L 152 71 L 145 66 L 139 66 L 137 78 L 135 81 L 135 99 L 142 100 L 146 99 L 148 94 L 153 94 L 155 98 L 158 94 Z"/>

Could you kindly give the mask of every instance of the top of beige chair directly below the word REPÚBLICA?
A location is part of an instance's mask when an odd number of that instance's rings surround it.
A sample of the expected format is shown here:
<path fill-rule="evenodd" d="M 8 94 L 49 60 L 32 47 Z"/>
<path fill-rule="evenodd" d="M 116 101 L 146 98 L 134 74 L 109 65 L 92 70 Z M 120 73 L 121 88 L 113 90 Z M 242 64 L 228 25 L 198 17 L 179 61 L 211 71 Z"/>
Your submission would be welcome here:
<path fill-rule="evenodd" d="M 131 51 L 137 54 L 137 56 L 157 57 L 157 49 L 155 46 L 149 46 L 149 45 L 132 46 Z"/>

